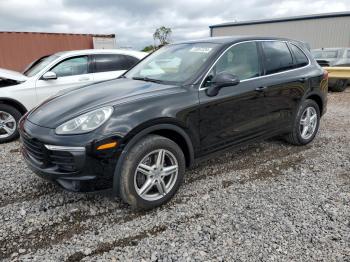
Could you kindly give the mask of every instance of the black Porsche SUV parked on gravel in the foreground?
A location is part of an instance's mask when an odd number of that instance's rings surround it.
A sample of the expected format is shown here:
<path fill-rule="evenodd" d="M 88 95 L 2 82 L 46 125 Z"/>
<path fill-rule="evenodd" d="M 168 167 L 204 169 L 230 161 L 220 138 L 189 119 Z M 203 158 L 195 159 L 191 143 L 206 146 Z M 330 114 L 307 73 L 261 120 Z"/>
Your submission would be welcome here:
<path fill-rule="evenodd" d="M 261 37 L 171 44 L 121 78 L 53 97 L 20 121 L 23 155 L 71 191 L 112 189 L 133 207 L 167 202 L 186 167 L 285 135 L 311 142 L 327 73 L 300 42 Z"/>

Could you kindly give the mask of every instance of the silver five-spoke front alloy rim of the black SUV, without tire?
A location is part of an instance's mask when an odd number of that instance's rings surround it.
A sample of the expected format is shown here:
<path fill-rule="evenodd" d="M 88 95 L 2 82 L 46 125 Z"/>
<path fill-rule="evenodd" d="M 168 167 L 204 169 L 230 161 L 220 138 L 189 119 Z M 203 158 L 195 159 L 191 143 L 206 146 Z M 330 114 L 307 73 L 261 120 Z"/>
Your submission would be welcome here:
<path fill-rule="evenodd" d="M 163 198 L 174 187 L 178 172 L 177 159 L 170 151 L 152 151 L 136 168 L 134 186 L 137 194 L 147 201 Z"/>

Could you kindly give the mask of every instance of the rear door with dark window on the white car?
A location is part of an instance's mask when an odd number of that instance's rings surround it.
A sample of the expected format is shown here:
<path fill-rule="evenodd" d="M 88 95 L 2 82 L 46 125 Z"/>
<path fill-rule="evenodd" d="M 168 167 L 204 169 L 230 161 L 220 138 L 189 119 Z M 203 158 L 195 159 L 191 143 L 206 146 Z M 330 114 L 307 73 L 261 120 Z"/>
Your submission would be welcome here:
<path fill-rule="evenodd" d="M 123 54 L 94 55 L 95 81 L 111 80 L 133 67 L 139 59 Z"/>

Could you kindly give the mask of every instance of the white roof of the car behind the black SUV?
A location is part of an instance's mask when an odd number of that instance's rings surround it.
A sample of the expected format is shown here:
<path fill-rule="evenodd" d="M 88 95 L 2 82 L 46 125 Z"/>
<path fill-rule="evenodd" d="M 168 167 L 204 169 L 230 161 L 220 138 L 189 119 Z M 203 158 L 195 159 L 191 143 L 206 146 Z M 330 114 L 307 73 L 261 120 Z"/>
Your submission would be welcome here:
<path fill-rule="evenodd" d="M 127 49 L 83 49 L 83 50 L 70 50 L 55 53 L 57 56 L 76 56 L 76 55 L 95 55 L 95 54 L 123 54 L 137 57 L 139 59 L 148 55 L 146 52 L 127 50 Z"/>

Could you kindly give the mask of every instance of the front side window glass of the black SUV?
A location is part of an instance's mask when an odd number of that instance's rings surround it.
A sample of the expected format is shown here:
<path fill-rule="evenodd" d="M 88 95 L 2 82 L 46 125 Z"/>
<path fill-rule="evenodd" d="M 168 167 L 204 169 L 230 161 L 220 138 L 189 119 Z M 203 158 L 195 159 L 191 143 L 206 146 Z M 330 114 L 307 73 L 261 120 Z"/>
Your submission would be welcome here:
<path fill-rule="evenodd" d="M 210 71 L 204 86 L 220 73 L 229 73 L 245 80 L 260 75 L 259 55 L 255 42 L 237 44 L 227 50 Z"/>

